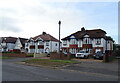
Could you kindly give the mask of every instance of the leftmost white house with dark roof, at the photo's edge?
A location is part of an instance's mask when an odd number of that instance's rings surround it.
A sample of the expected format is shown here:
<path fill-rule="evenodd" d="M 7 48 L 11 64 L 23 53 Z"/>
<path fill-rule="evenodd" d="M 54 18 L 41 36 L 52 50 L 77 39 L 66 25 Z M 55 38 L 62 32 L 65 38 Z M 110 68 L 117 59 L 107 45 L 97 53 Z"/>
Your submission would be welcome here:
<path fill-rule="evenodd" d="M 15 47 L 16 40 L 16 37 L 0 37 L 2 52 L 13 50 Z"/>

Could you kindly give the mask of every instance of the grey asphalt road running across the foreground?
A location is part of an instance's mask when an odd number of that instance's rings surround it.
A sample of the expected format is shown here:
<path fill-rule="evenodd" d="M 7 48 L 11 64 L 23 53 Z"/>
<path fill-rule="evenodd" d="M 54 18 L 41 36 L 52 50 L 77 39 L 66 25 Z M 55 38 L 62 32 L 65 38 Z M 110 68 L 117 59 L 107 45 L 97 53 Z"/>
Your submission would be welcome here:
<path fill-rule="evenodd" d="M 104 74 L 85 71 L 76 71 L 61 67 L 52 69 L 46 67 L 35 67 L 16 64 L 16 61 L 26 60 L 27 58 L 5 59 L 2 61 L 2 80 L 3 81 L 118 81 L 115 74 Z M 73 66 L 72 66 L 73 67 Z M 81 67 L 83 68 L 83 67 Z M 91 68 L 92 69 L 92 68 Z M 97 70 L 96 70 L 97 71 Z M 110 71 L 109 71 L 110 72 Z M 108 73 L 109 73 L 108 72 Z M 114 72 L 113 72 L 114 73 Z"/>

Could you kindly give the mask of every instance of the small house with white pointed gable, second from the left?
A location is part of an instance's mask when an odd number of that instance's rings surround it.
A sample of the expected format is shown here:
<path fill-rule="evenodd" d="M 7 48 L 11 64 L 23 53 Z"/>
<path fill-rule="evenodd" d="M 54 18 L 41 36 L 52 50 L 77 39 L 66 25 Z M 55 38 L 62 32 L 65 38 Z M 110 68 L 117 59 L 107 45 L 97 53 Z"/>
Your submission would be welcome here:
<path fill-rule="evenodd" d="M 26 52 L 25 50 L 25 43 L 27 42 L 28 39 L 26 38 L 17 38 L 14 50 L 18 50 L 21 52 Z"/>

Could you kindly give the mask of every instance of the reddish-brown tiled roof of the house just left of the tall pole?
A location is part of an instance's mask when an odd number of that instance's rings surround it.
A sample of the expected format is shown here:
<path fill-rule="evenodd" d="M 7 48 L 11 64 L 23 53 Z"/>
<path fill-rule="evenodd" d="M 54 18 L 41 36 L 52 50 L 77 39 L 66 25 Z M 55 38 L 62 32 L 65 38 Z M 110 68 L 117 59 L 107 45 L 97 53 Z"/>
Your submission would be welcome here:
<path fill-rule="evenodd" d="M 50 34 L 47 34 L 45 32 L 43 32 L 43 34 L 41 34 L 41 35 L 33 37 L 33 39 L 36 40 L 39 37 L 42 38 L 44 41 L 56 41 L 56 42 L 59 42 L 58 39 L 56 39 L 55 37 L 53 37 Z"/>

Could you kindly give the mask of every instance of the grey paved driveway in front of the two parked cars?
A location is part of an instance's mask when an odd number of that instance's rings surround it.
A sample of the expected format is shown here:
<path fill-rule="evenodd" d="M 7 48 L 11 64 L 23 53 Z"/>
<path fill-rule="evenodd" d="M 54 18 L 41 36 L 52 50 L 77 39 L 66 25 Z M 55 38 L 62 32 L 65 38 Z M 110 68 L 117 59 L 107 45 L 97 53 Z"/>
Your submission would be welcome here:
<path fill-rule="evenodd" d="M 113 62 L 104 63 L 102 60 L 94 59 L 76 59 L 80 61 L 80 64 L 73 64 L 61 67 L 62 69 L 86 72 L 91 74 L 98 74 L 103 76 L 118 76 L 118 60 L 116 59 Z"/>

